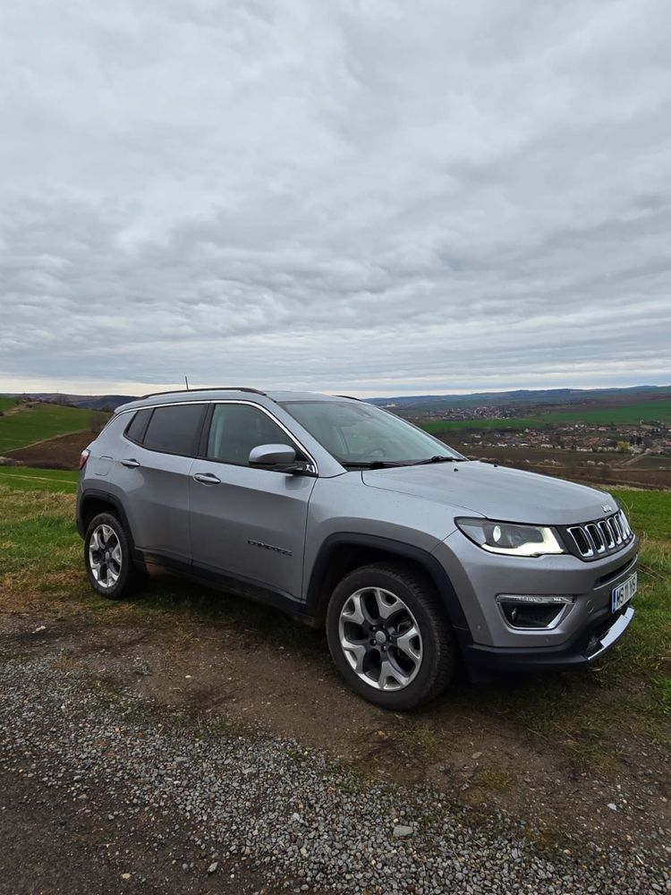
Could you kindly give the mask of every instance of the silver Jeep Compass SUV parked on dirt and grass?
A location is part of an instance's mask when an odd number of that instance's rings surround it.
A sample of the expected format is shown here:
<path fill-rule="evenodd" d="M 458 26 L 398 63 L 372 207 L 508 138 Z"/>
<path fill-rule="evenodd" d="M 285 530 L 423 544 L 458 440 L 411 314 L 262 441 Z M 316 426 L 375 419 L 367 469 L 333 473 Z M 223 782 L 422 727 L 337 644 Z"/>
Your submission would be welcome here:
<path fill-rule="evenodd" d="M 149 395 L 82 454 L 93 588 L 165 567 L 325 626 L 346 682 L 409 709 L 471 678 L 594 661 L 633 618 L 638 540 L 599 490 L 468 461 L 354 398 Z"/>

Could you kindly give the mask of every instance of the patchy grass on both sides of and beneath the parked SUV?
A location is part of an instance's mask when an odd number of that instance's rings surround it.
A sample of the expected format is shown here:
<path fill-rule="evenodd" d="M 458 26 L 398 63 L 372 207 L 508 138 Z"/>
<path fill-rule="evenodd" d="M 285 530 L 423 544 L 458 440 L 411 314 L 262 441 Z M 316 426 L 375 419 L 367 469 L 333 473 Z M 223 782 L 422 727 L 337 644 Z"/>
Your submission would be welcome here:
<path fill-rule="evenodd" d="M 73 522 L 76 473 L 0 468 L 0 605 L 22 611 L 47 607 L 106 618 L 182 624 L 185 618 L 213 622 L 241 618 L 266 631 L 268 610 L 251 603 L 213 599 L 191 585 L 168 579 L 152 584 L 136 601 L 115 604 L 90 592 L 81 564 L 81 540 Z M 500 716 L 521 729 L 561 744 L 578 763 L 604 772 L 617 764 L 620 736 L 668 745 L 671 714 L 671 492 L 614 490 L 641 536 L 640 590 L 628 634 L 598 669 L 548 675 L 518 686 L 458 686 L 450 699 L 422 715 L 449 729 L 452 712 Z M 233 608 L 232 608 L 233 607 Z M 233 616 L 231 615 L 233 613 Z M 236 614 L 237 613 L 237 614 Z M 182 619 L 182 621 L 180 621 Z M 315 648 L 314 632 L 272 614 L 278 643 Z M 235 622 L 237 624 L 238 622 Z M 600 772 L 600 771 L 599 771 Z"/>

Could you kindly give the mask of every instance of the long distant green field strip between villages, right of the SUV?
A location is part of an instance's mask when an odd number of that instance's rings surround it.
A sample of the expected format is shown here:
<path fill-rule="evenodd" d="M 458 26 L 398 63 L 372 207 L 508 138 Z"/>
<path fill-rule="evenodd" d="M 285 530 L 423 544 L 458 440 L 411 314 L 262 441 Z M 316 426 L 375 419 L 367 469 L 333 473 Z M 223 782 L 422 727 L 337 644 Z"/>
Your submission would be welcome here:
<path fill-rule="evenodd" d="M 562 413 L 539 413 L 534 416 L 511 417 L 508 420 L 429 420 L 421 428 L 437 435 L 439 432 L 463 429 L 543 429 L 561 423 L 585 422 L 596 425 L 608 423 L 637 423 L 650 420 L 671 422 L 671 401 L 640 401 L 601 410 L 574 410 Z"/>

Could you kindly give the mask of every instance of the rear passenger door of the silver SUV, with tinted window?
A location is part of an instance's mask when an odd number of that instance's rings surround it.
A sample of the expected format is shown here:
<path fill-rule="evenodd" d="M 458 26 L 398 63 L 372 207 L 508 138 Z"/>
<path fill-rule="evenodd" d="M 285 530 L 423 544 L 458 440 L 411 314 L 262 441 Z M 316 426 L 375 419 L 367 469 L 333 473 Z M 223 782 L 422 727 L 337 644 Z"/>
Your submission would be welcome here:
<path fill-rule="evenodd" d="M 191 562 L 189 482 L 207 406 L 141 409 L 115 457 L 135 544 L 162 559 Z"/>

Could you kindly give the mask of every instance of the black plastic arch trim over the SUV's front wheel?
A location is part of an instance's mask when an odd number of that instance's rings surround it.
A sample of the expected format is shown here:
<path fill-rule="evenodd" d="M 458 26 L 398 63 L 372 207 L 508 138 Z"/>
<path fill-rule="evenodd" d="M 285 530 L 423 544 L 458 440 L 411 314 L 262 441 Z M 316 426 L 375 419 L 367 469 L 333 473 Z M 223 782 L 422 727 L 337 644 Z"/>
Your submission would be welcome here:
<path fill-rule="evenodd" d="M 377 534 L 342 532 L 329 534 L 319 548 L 317 559 L 310 574 L 310 584 L 306 592 L 306 609 L 311 616 L 321 618 L 325 613 L 330 594 L 323 592 L 323 583 L 327 577 L 328 566 L 335 550 L 340 547 L 355 547 L 369 550 L 382 550 L 399 559 L 410 559 L 416 562 L 429 575 L 436 585 L 438 595 L 446 609 L 447 618 L 454 628 L 454 634 L 463 646 L 473 642 L 471 629 L 464 615 L 462 604 L 454 590 L 446 570 L 435 556 L 420 547 L 414 547 L 404 541 L 395 541 Z"/>

